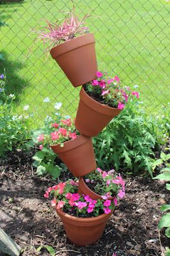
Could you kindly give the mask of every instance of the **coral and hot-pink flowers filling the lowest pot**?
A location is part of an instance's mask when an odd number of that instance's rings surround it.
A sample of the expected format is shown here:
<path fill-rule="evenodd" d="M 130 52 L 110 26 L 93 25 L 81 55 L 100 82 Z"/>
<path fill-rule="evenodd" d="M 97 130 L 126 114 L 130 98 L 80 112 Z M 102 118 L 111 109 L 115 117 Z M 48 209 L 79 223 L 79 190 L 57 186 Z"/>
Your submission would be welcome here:
<path fill-rule="evenodd" d="M 89 195 L 80 195 L 78 181 L 67 180 L 48 188 L 45 198 L 52 198 L 51 204 L 67 214 L 81 217 L 109 214 L 115 208 L 115 198 L 93 200 Z"/>

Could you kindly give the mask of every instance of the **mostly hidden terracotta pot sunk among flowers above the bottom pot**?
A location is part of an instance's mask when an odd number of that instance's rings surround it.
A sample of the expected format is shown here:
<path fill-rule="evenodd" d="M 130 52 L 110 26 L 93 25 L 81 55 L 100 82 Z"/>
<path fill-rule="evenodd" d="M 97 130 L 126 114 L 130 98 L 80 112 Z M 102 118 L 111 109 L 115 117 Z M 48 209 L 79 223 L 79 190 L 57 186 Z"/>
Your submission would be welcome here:
<path fill-rule="evenodd" d="M 84 195 L 89 195 L 90 198 L 94 199 L 94 200 L 103 200 L 103 198 L 101 197 L 101 195 L 98 195 L 97 193 L 95 193 L 94 191 L 92 191 L 86 184 L 85 184 L 85 180 L 83 179 L 83 177 L 80 177 L 79 182 L 78 182 L 78 193 L 84 194 Z M 108 198 L 110 200 L 112 200 L 113 198 L 110 197 Z"/>

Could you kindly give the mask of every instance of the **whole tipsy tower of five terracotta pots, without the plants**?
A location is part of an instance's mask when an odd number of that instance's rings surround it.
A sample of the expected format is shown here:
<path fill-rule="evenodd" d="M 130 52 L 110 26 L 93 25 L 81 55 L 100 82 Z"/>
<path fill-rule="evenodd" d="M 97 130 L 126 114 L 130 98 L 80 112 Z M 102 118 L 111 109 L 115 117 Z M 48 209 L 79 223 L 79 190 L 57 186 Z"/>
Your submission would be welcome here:
<path fill-rule="evenodd" d="M 97 61 L 94 35 L 86 34 L 53 47 L 50 51 L 74 87 L 82 86 L 96 79 Z M 85 184 L 83 177 L 96 169 L 96 159 L 92 137 L 120 113 L 92 99 L 84 90 L 80 91 L 80 102 L 76 113 L 75 127 L 80 135 L 60 145 L 52 145 L 52 150 L 66 164 L 74 176 L 80 177 L 78 193 L 88 195 L 93 200 L 102 199 Z M 67 237 L 78 245 L 92 244 L 102 236 L 110 214 L 92 218 L 78 218 L 56 209 L 66 230 Z"/>

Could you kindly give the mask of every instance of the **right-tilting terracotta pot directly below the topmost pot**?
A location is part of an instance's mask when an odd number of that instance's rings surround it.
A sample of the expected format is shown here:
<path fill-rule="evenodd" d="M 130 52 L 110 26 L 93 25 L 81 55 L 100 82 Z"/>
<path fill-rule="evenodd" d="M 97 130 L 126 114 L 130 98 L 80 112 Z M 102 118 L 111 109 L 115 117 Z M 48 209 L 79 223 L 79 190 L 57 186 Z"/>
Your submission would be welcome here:
<path fill-rule="evenodd" d="M 92 99 L 82 87 L 75 120 L 76 129 L 85 136 L 97 136 L 120 112 L 118 108 L 111 108 Z"/>

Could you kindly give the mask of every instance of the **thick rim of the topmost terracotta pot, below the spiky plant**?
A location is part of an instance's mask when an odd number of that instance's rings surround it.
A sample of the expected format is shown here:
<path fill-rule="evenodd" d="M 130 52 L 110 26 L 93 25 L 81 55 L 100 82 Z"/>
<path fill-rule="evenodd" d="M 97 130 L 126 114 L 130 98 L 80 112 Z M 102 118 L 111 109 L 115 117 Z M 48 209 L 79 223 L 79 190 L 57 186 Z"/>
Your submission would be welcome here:
<path fill-rule="evenodd" d="M 87 38 L 88 40 L 86 40 L 86 42 L 82 42 L 82 38 Z M 56 45 L 50 50 L 50 54 L 52 55 L 52 58 L 56 58 L 66 52 L 73 51 L 74 49 L 77 49 L 81 46 L 93 43 L 95 43 L 94 34 L 84 34 L 76 38 L 69 39 L 66 42 L 63 42 L 59 45 Z"/>

